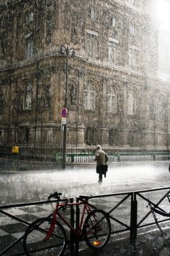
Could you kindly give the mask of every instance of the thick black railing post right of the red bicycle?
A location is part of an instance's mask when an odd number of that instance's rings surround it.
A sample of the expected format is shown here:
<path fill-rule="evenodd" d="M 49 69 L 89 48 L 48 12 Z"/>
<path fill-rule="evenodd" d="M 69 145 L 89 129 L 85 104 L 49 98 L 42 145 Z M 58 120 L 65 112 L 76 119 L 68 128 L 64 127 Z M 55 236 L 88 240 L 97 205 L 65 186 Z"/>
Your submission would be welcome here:
<path fill-rule="evenodd" d="M 131 233 L 130 239 L 134 241 L 137 238 L 137 199 L 136 193 L 131 195 Z"/>

